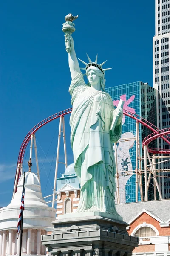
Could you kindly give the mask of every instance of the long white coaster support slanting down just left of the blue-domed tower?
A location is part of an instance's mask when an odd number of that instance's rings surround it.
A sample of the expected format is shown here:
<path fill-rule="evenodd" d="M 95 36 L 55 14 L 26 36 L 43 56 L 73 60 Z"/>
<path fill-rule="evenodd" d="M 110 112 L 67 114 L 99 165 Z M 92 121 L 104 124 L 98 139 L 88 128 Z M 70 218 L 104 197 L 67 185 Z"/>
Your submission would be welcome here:
<path fill-rule="evenodd" d="M 62 128 L 62 116 L 60 117 L 60 120 L 59 120 L 59 135 L 58 135 L 57 157 L 56 157 L 56 168 L 55 168 L 53 201 L 52 201 L 53 208 L 55 203 L 55 192 L 56 192 L 56 185 L 57 185 L 57 171 L 58 171 L 58 163 L 59 163 L 59 146 L 60 146 L 60 140 L 61 140 L 61 128 Z"/>

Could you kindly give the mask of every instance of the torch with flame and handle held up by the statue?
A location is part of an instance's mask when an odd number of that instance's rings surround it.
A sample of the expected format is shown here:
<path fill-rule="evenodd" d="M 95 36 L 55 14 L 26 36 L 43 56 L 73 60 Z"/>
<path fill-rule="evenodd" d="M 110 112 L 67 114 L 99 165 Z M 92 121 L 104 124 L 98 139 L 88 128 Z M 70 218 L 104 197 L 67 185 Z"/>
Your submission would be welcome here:
<path fill-rule="evenodd" d="M 65 23 L 63 23 L 62 31 L 65 33 L 65 35 L 71 35 L 76 29 L 75 24 L 72 22 L 78 18 L 79 15 L 73 16 L 71 13 L 69 13 L 67 16 L 65 16 Z M 66 52 L 71 51 L 70 47 L 70 40 L 67 38 L 65 39 L 65 46 L 66 46 Z"/>

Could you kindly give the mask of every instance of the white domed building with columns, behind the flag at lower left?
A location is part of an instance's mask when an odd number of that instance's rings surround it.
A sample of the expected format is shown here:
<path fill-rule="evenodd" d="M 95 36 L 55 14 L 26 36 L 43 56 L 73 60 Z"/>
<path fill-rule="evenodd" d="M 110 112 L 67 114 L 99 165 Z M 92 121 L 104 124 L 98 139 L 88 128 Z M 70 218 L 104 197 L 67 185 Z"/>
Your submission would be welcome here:
<path fill-rule="evenodd" d="M 17 239 L 17 223 L 22 189 L 23 175 L 18 182 L 14 199 L 7 207 L 0 209 L 0 256 L 19 254 L 20 239 Z M 38 177 L 32 172 L 26 172 L 22 254 L 46 254 L 45 247 L 41 245 L 41 235 L 46 233 L 45 227 L 51 227 L 51 222 L 55 218 L 55 209 L 48 207 L 42 198 Z"/>

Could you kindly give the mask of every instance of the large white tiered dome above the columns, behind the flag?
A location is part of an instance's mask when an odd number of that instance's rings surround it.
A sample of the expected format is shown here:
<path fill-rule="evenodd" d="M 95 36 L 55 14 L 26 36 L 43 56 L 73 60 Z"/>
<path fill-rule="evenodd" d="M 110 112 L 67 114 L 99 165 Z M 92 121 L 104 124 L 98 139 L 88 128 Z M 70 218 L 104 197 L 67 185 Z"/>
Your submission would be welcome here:
<path fill-rule="evenodd" d="M 33 172 L 26 172 L 25 182 L 23 227 L 33 229 L 51 227 L 51 221 L 55 219 L 56 210 L 45 204 L 37 175 Z M 17 227 L 22 190 L 23 175 L 21 175 L 18 181 L 17 192 L 11 200 L 11 203 L 8 204 L 7 207 L 0 209 L 0 230 L 8 230 Z"/>

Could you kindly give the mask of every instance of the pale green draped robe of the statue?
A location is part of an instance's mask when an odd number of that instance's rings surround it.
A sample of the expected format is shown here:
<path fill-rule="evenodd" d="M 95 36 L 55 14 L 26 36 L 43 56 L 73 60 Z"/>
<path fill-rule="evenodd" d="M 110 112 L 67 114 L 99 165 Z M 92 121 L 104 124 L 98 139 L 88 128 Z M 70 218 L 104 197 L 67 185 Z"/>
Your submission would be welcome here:
<path fill-rule="evenodd" d="M 74 168 L 81 186 L 77 212 L 116 214 L 116 165 L 113 143 L 122 134 L 122 122 L 110 130 L 114 116 L 111 96 L 85 84 L 82 73 L 71 82 L 70 117 Z"/>

